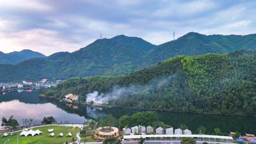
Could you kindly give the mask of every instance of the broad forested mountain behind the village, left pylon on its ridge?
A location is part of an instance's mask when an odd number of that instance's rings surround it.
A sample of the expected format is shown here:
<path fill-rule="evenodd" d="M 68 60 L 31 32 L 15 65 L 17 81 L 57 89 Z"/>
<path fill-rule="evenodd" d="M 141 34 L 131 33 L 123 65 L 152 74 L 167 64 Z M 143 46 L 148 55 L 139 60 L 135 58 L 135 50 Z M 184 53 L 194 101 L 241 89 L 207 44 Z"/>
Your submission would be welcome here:
<path fill-rule="evenodd" d="M 31 58 L 15 65 L 0 65 L 0 81 L 131 73 L 141 64 L 145 53 L 154 47 L 156 45 L 141 38 L 124 35 L 98 39 L 72 53 L 59 52 L 45 58 Z"/>

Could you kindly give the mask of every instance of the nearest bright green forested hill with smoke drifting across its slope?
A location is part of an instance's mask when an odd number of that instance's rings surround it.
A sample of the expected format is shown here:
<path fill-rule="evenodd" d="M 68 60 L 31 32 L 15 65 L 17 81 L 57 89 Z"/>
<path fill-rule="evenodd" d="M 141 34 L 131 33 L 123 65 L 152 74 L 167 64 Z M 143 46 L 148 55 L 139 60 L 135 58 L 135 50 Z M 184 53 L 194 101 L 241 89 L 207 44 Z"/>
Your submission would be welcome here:
<path fill-rule="evenodd" d="M 256 51 L 179 55 L 131 74 L 71 78 L 46 96 L 98 91 L 115 107 L 256 116 Z"/>

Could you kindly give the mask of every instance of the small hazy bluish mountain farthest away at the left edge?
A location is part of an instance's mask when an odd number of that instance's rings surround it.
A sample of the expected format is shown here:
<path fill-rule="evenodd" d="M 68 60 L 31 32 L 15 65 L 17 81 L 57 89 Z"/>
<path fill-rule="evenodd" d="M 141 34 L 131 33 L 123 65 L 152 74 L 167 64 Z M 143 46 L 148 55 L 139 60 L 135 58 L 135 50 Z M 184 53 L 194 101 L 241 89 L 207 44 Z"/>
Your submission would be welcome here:
<path fill-rule="evenodd" d="M 34 52 L 29 49 L 21 50 L 20 52 L 3 53 L 0 52 L 0 64 L 16 64 L 26 59 L 34 57 L 45 57 L 42 53 Z"/>

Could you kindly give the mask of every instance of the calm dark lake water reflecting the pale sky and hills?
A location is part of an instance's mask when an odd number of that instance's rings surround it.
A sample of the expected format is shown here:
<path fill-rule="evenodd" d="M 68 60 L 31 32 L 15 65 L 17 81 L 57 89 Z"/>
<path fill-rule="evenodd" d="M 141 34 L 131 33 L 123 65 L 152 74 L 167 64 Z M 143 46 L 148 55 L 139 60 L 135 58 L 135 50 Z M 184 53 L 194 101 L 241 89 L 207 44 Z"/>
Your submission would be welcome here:
<path fill-rule="evenodd" d="M 41 99 L 38 90 L 31 92 L 8 92 L 0 94 L 0 117 L 9 117 L 12 114 L 22 125 L 22 119 L 33 119 L 33 123 L 40 123 L 44 116 L 54 116 L 58 122 L 68 120 L 71 123 L 83 123 L 86 119 L 105 118 L 112 114 L 116 119 L 124 114 L 132 115 L 142 110 L 122 108 L 100 108 L 77 106 L 77 109 L 59 103 L 52 99 Z M 184 123 L 192 132 L 196 132 L 199 125 L 204 125 L 207 131 L 213 133 L 218 127 L 222 132 L 239 131 L 244 135 L 252 130 L 256 134 L 256 117 L 250 116 L 225 116 L 213 114 L 193 114 L 157 111 L 159 119 L 174 129 Z"/>

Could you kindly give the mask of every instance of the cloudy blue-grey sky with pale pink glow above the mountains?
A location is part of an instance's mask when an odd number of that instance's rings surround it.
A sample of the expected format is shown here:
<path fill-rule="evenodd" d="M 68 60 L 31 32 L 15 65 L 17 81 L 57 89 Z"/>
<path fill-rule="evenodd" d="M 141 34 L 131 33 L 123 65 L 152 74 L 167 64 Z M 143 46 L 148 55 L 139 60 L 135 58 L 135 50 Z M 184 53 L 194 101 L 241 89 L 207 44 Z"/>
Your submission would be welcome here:
<path fill-rule="evenodd" d="M 0 0 L 0 51 L 73 52 L 124 34 L 159 45 L 191 31 L 256 33 L 255 0 Z"/>

